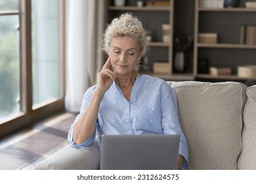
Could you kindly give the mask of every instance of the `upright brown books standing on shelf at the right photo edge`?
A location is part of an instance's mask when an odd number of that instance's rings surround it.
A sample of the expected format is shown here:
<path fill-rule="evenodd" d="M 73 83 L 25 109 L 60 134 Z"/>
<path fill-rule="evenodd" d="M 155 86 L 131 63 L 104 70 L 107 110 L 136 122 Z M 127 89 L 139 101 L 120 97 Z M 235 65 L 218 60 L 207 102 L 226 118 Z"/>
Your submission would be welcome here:
<path fill-rule="evenodd" d="M 240 44 L 256 44 L 256 25 L 241 25 Z"/>

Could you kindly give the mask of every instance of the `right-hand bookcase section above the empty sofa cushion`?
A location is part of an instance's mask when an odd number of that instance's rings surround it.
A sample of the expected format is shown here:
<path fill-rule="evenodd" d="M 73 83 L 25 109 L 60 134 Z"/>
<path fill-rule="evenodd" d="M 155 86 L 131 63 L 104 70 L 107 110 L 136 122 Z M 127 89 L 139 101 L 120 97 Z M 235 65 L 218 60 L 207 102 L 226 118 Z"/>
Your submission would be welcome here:
<path fill-rule="evenodd" d="M 237 75 L 238 66 L 256 64 L 256 45 L 240 43 L 240 27 L 256 25 L 256 8 L 245 8 L 245 1 L 234 8 L 203 8 L 195 1 L 193 75 L 200 80 L 256 80 Z M 200 33 L 217 33 L 217 43 L 198 42 Z M 232 75 L 213 76 L 201 73 L 199 59 L 209 67 L 231 67 Z"/>

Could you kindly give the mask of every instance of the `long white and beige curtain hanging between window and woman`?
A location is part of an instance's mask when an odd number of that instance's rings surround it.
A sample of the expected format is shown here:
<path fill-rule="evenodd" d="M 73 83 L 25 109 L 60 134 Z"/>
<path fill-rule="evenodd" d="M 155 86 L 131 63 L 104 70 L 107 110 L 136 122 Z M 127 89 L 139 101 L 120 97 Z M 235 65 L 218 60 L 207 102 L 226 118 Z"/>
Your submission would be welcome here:
<path fill-rule="evenodd" d="M 105 0 L 66 0 L 66 96 L 69 112 L 79 112 L 85 91 L 95 84 L 104 54 Z"/>

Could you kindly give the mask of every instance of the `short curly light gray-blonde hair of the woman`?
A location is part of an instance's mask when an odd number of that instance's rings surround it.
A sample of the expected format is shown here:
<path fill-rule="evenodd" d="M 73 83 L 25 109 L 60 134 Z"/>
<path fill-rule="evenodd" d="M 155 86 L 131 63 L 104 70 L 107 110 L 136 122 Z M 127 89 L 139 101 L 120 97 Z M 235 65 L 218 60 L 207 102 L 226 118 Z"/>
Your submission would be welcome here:
<path fill-rule="evenodd" d="M 146 41 L 146 30 L 142 27 L 142 22 L 133 16 L 131 13 L 121 14 L 119 18 L 114 18 L 111 24 L 108 25 L 104 33 L 103 50 L 108 53 L 110 44 L 116 37 L 131 37 L 138 40 L 140 54 L 144 56 L 148 48 Z"/>

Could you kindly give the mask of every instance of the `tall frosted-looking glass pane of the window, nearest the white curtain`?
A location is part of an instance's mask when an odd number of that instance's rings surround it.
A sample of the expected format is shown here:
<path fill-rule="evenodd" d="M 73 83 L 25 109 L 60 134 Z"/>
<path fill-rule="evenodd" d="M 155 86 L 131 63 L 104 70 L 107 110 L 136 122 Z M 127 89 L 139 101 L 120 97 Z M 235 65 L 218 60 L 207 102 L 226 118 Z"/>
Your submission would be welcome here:
<path fill-rule="evenodd" d="M 33 107 L 60 97 L 58 0 L 32 0 Z"/>

